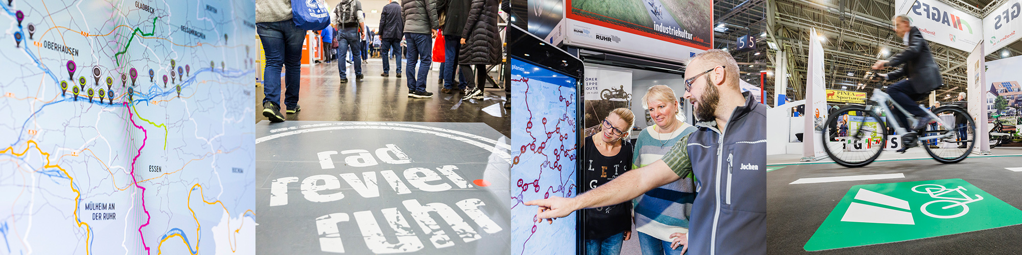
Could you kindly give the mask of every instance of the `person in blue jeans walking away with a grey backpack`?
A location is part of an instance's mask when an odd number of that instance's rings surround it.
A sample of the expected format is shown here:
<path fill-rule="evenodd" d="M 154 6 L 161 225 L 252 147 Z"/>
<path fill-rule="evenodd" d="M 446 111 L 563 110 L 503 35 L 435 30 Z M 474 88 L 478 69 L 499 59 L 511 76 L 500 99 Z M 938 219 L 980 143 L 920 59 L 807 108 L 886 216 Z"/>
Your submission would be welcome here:
<path fill-rule="evenodd" d="M 362 39 L 365 38 L 365 32 L 362 28 L 366 27 L 366 20 L 362 13 L 362 2 L 359 0 L 340 0 L 336 7 L 333 7 L 333 15 L 330 15 L 331 23 L 337 27 L 337 59 L 341 61 L 337 64 L 337 71 L 340 72 L 340 83 L 347 83 L 347 62 L 343 61 L 347 58 L 347 51 L 352 51 L 352 59 L 355 61 L 352 64 L 355 65 L 355 80 L 362 81 L 362 61 L 359 61 L 362 57 L 359 53 L 362 51 Z"/>

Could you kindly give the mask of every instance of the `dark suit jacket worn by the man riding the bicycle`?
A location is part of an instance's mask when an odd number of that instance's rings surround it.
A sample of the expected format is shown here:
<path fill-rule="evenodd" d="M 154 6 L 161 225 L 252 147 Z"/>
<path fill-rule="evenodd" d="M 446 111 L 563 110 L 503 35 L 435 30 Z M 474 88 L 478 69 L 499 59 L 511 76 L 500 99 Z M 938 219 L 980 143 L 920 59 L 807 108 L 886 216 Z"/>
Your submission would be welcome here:
<path fill-rule="evenodd" d="M 887 81 L 908 76 L 916 94 L 928 94 L 942 85 L 940 68 L 933 61 L 930 45 L 916 27 L 909 30 L 909 47 L 887 61 L 885 64 L 887 66 L 904 64 L 894 71 L 887 72 Z"/>

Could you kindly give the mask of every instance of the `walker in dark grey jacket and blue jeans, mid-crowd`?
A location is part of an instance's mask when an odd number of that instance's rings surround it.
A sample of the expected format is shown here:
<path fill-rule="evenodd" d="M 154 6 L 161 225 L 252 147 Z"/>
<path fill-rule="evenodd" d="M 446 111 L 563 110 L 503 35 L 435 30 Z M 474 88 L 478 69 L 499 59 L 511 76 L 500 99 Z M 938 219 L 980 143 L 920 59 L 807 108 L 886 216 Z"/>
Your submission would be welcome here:
<path fill-rule="evenodd" d="M 402 4 L 402 14 L 405 17 L 405 40 L 408 53 L 405 58 L 408 63 L 405 74 L 408 74 L 408 96 L 414 98 L 429 98 L 433 93 L 426 92 L 426 76 L 432 64 L 432 41 L 436 36 L 439 21 L 436 14 L 436 0 L 405 0 Z M 418 60 L 418 73 L 415 65 Z"/>

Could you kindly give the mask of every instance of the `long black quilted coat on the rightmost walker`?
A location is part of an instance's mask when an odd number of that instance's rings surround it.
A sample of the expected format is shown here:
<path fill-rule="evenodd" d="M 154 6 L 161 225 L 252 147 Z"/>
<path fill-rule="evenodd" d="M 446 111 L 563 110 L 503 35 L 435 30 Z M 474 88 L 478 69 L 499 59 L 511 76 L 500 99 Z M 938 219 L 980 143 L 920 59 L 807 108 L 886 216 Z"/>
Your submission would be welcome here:
<path fill-rule="evenodd" d="M 501 35 L 497 28 L 500 0 L 472 0 L 461 38 L 465 45 L 458 52 L 458 64 L 498 64 L 501 62 Z"/>

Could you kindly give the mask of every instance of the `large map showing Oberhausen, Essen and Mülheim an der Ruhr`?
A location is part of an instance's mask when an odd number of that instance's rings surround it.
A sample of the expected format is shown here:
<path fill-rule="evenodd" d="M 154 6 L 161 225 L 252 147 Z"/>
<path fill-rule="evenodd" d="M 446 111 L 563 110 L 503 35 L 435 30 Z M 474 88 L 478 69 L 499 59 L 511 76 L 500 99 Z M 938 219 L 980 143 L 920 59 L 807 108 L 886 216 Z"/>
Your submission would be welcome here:
<path fill-rule="evenodd" d="M 0 254 L 254 254 L 253 2 L 0 6 Z"/>

